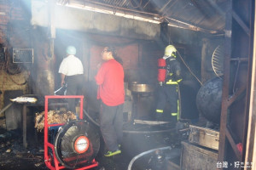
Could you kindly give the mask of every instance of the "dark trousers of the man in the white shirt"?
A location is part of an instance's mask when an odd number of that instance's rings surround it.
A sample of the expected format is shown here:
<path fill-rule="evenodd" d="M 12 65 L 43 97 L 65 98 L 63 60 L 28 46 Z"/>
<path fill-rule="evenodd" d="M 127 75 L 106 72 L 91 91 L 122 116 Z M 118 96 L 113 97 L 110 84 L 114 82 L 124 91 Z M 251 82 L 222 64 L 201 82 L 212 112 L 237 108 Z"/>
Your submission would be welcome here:
<path fill-rule="evenodd" d="M 67 94 L 66 95 L 82 95 L 81 89 L 83 86 L 83 76 L 75 75 L 67 77 Z M 68 103 L 68 111 L 76 112 L 76 100 L 75 99 L 67 99 Z"/>

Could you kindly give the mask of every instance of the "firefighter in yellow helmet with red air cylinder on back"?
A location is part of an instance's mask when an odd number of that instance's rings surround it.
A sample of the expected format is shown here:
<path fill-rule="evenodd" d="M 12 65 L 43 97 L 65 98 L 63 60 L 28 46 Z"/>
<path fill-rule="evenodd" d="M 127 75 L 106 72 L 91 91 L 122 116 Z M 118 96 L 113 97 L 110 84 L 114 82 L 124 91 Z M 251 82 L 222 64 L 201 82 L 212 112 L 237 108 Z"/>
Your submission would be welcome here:
<path fill-rule="evenodd" d="M 163 120 L 163 112 L 166 103 L 170 105 L 172 120 L 178 119 L 178 83 L 181 79 L 181 66 L 176 57 L 177 49 L 173 45 L 168 45 L 165 55 L 159 59 L 159 91 L 157 94 L 156 120 Z"/>

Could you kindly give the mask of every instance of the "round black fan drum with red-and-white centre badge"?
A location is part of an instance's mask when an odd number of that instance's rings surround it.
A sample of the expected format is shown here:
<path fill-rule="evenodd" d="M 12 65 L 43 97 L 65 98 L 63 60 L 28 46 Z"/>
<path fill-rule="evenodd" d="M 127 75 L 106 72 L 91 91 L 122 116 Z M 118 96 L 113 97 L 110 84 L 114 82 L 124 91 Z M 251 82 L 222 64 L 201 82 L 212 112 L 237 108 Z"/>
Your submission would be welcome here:
<path fill-rule="evenodd" d="M 90 165 L 100 149 L 100 135 L 89 122 L 67 122 L 55 137 L 55 156 L 62 166 L 80 168 Z"/>

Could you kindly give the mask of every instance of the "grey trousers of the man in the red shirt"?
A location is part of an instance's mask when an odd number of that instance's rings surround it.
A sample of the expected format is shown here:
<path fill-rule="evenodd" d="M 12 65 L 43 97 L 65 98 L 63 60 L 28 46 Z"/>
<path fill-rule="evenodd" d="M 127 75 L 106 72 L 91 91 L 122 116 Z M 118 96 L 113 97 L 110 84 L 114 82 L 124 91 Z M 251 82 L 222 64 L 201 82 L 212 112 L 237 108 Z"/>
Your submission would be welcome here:
<path fill-rule="evenodd" d="M 100 111 L 100 127 L 106 147 L 110 151 L 119 149 L 123 138 L 124 105 L 108 106 L 102 103 Z"/>

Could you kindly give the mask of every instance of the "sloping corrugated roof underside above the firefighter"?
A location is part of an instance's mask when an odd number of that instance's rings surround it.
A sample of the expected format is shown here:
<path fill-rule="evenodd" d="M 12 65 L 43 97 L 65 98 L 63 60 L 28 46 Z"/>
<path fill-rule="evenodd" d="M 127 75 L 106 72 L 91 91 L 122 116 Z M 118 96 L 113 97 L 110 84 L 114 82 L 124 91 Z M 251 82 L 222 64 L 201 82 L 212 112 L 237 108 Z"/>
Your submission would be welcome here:
<path fill-rule="evenodd" d="M 134 14 L 172 26 L 208 33 L 224 33 L 226 0 L 57 0 L 114 12 Z"/>

